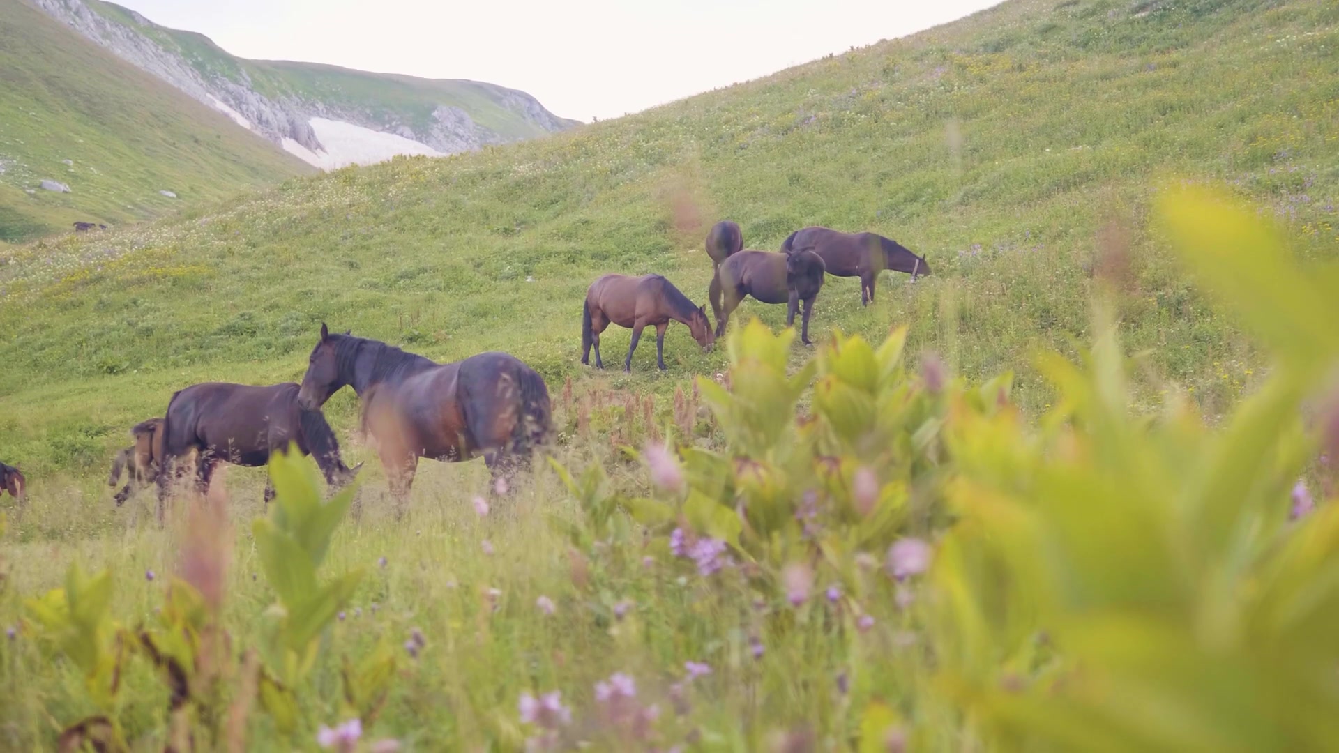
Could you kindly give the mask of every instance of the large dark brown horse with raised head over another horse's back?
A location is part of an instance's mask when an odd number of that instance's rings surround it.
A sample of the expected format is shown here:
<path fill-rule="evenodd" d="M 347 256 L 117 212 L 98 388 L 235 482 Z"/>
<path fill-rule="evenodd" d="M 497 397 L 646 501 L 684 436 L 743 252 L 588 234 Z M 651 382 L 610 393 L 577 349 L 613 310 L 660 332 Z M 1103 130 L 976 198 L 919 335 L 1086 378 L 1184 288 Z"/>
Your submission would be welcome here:
<path fill-rule="evenodd" d="M 315 410 L 349 386 L 363 402 L 363 431 L 378 446 L 399 500 L 418 458 L 447 462 L 483 454 L 494 480 L 529 462 L 552 427 L 549 390 L 533 368 L 505 352 L 435 363 L 321 324 L 299 403 Z"/>

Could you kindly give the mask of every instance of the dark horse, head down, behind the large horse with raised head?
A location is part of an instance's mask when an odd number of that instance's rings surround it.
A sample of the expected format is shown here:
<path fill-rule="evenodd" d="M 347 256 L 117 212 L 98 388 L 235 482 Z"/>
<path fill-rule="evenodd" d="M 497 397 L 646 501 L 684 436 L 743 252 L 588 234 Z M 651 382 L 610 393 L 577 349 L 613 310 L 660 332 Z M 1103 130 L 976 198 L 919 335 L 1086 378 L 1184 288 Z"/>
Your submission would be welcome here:
<path fill-rule="evenodd" d="M 209 490 L 209 478 L 220 462 L 260 468 L 269 462 L 270 453 L 287 452 L 289 442 L 316 458 L 327 484 L 343 486 L 352 481 L 363 464 L 344 466 L 335 431 L 319 409 L 299 407 L 297 393 L 292 382 L 264 387 L 205 382 L 175 393 L 158 430 L 159 521 L 174 476 L 170 466 L 191 450 L 200 453 L 195 480 L 201 493 Z M 274 488 L 266 480 L 265 502 L 273 497 Z"/>

